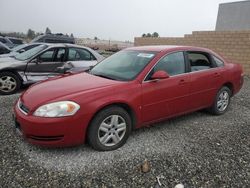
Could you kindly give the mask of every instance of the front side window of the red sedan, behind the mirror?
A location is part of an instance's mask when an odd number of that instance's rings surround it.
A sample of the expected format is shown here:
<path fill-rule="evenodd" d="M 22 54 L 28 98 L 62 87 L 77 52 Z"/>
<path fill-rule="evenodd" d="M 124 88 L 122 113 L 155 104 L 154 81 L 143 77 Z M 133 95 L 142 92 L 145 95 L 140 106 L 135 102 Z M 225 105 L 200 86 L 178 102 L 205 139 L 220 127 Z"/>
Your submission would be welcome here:
<path fill-rule="evenodd" d="M 185 60 L 183 52 L 166 55 L 153 69 L 154 72 L 159 70 L 167 72 L 170 76 L 185 73 Z"/>

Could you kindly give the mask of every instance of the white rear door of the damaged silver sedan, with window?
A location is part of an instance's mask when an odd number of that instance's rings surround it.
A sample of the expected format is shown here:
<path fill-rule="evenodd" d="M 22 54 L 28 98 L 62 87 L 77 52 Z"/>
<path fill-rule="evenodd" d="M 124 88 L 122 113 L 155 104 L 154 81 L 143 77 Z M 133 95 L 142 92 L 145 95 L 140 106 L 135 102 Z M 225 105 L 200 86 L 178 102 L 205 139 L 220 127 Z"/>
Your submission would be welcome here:
<path fill-rule="evenodd" d="M 71 64 L 74 69 L 85 70 L 97 63 L 95 56 L 84 48 L 68 48 L 67 63 Z"/>

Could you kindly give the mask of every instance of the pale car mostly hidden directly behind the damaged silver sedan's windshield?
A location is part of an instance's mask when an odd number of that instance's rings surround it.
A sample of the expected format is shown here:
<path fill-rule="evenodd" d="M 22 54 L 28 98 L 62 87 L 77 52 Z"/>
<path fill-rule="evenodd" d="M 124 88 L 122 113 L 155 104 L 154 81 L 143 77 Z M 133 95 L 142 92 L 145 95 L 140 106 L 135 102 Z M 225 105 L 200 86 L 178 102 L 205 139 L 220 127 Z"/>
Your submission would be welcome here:
<path fill-rule="evenodd" d="M 39 46 L 41 44 L 44 44 L 44 43 L 30 43 L 30 44 L 22 44 L 22 45 L 16 46 L 16 47 L 12 48 L 8 53 L 0 55 L 0 58 L 14 57 L 17 54 L 26 52 L 26 51 L 28 51 L 28 50 L 30 50 L 30 49 L 32 49 L 34 47 L 37 47 L 37 46 Z"/>

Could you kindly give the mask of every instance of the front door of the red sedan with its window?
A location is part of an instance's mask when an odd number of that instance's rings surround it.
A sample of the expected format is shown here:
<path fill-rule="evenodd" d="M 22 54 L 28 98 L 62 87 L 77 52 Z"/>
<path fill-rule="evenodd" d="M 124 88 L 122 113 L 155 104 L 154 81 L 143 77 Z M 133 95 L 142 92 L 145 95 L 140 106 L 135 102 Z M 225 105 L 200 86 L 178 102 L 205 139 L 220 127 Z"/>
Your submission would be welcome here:
<path fill-rule="evenodd" d="M 170 77 L 153 81 L 154 72 L 163 70 Z M 183 52 L 163 57 L 142 83 L 143 122 L 159 120 L 189 110 L 190 75 L 186 74 Z"/>

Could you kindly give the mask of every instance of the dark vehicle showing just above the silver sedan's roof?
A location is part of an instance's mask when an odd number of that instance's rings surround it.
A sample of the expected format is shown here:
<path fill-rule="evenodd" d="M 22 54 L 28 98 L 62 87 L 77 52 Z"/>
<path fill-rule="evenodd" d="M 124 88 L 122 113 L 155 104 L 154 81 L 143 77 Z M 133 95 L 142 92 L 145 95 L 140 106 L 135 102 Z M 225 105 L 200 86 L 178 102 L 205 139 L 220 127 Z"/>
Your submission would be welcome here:
<path fill-rule="evenodd" d="M 34 38 L 32 41 L 34 42 L 45 42 L 45 43 L 68 43 L 75 44 L 74 37 L 69 37 L 67 35 L 63 35 L 61 33 L 57 34 L 44 34 Z"/>

